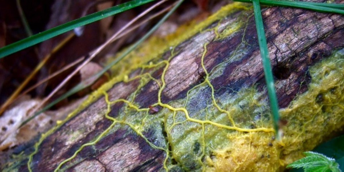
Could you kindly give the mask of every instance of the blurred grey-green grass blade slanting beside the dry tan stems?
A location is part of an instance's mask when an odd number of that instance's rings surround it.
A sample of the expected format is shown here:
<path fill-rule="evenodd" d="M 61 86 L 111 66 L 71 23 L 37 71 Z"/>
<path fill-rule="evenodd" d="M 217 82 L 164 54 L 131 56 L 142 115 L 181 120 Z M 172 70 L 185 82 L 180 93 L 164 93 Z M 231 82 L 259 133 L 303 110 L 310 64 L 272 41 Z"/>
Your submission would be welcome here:
<path fill-rule="evenodd" d="M 168 17 L 170 17 L 170 15 L 180 6 L 180 4 L 183 2 L 183 0 L 179 0 L 178 3 L 168 12 L 164 15 L 163 18 L 160 19 L 160 21 L 155 24 L 153 26 L 152 29 L 150 29 L 144 36 L 141 37 L 140 40 L 138 40 L 135 44 L 131 45 L 125 52 L 123 52 L 118 58 L 116 58 L 114 61 L 112 61 L 111 63 L 109 63 L 107 66 L 105 66 L 103 68 L 103 70 L 99 71 L 98 73 L 94 74 L 93 76 L 91 76 L 92 78 L 99 78 L 101 75 L 103 75 L 108 69 L 111 68 L 111 66 L 117 64 L 119 61 L 121 61 L 125 56 L 127 56 L 132 50 L 134 50 L 137 46 L 139 46 L 144 40 L 146 40 L 155 30 L 157 30 L 159 28 L 159 26 L 166 21 L 166 19 Z M 20 126 L 25 125 L 26 123 L 28 123 L 31 119 L 35 118 L 37 115 L 41 114 L 42 112 L 44 112 L 45 110 L 51 108 L 52 106 L 54 106 L 56 103 L 60 102 L 61 100 L 67 98 L 70 95 L 73 95 L 74 93 L 88 87 L 89 85 L 91 85 L 93 83 L 79 83 L 78 85 L 76 85 L 75 87 L 73 87 L 71 90 L 69 90 L 68 92 L 66 92 L 65 94 L 63 94 L 62 96 L 58 97 L 56 100 L 54 100 L 52 103 L 48 104 L 47 106 L 45 106 L 44 108 L 42 108 L 41 110 L 37 111 L 32 117 L 26 119 Z"/>

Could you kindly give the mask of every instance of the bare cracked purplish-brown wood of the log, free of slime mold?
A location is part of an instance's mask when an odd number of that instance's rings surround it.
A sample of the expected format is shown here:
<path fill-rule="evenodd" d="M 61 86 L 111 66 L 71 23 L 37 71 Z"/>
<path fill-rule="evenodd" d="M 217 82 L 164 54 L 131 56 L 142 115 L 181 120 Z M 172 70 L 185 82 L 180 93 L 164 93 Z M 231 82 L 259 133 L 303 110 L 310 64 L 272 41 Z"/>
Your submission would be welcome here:
<path fill-rule="evenodd" d="M 307 90 L 307 83 L 310 82 L 308 67 L 331 55 L 333 50 L 344 46 L 344 17 L 291 8 L 267 8 L 262 14 L 278 102 L 283 108 L 287 107 L 297 94 Z M 174 52 L 177 53 L 171 58 L 164 75 L 166 86 L 161 94 L 162 103 L 185 98 L 187 90 L 204 81 L 205 72 L 201 66 L 201 57 L 204 44 L 208 41 L 210 43 L 204 56 L 207 71 L 228 60 L 228 57 L 238 51 L 239 46 L 239 49 L 245 49 L 240 60 L 228 61 L 223 73 L 211 80 L 216 95 L 222 95 L 226 88 L 238 91 L 242 87 L 255 84 L 258 90 L 264 90 L 264 73 L 252 10 L 236 11 L 207 28 L 217 26 L 218 32 L 221 33 L 227 26 L 234 24 L 237 18 L 243 16 L 248 19 L 247 22 L 245 21 L 245 24 L 233 34 L 217 39 L 214 30 L 209 29 L 193 35 L 175 47 Z M 241 45 L 243 42 L 245 44 Z M 167 51 L 162 58 L 167 60 L 170 54 L 171 52 Z M 160 84 L 163 69 L 162 66 L 152 74 Z M 129 77 L 132 78 L 138 73 L 139 71 L 135 71 Z M 138 85 L 139 79 L 114 84 L 107 91 L 109 100 L 127 99 Z M 150 81 L 140 89 L 135 102 L 140 108 L 148 108 L 157 103 L 158 91 L 158 84 Z M 111 106 L 109 116 L 116 117 L 122 106 L 123 103 Z M 47 136 L 32 157 L 31 169 L 53 171 L 80 146 L 100 135 L 111 125 L 111 121 L 104 117 L 106 109 L 107 103 L 102 96 Z M 82 133 L 73 133 L 81 128 Z M 151 133 L 143 134 L 150 138 Z M 14 152 L 32 152 L 35 141 L 21 149 L 17 148 Z M 119 129 L 109 132 L 93 148 L 89 146 L 80 151 L 77 157 L 82 161 L 69 164 L 68 171 L 157 171 L 163 170 L 162 162 L 165 156 L 164 151 L 152 149 L 135 132 L 128 133 L 125 129 Z M 27 161 L 28 159 L 23 159 L 15 163 L 19 171 L 28 170 Z"/>

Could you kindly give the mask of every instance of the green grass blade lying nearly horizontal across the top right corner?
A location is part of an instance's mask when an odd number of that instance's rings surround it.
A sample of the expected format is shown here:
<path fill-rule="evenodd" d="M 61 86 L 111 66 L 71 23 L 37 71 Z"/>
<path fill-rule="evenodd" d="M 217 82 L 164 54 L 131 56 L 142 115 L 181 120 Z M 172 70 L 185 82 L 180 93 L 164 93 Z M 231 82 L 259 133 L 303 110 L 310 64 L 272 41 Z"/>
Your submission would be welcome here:
<path fill-rule="evenodd" d="M 234 0 L 239 2 L 252 3 L 251 0 Z M 260 4 L 266 6 L 278 6 L 278 7 L 294 7 L 303 8 L 318 12 L 338 13 L 344 14 L 343 4 L 332 3 L 318 3 L 318 2 L 300 2 L 300 1 L 275 1 L 275 0 L 260 0 Z"/>

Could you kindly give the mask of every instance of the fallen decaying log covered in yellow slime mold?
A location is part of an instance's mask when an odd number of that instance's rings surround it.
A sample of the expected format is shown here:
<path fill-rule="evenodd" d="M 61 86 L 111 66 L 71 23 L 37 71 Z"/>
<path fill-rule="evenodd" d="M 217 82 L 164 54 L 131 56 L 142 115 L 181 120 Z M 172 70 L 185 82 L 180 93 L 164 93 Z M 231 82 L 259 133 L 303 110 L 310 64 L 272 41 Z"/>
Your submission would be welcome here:
<path fill-rule="evenodd" d="M 281 141 L 252 8 L 232 3 L 180 38 L 152 38 L 65 120 L 17 147 L 3 170 L 284 169 L 344 126 L 344 17 L 276 7 L 262 15 Z"/>

